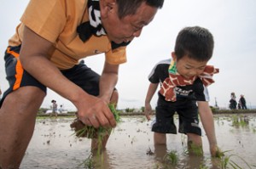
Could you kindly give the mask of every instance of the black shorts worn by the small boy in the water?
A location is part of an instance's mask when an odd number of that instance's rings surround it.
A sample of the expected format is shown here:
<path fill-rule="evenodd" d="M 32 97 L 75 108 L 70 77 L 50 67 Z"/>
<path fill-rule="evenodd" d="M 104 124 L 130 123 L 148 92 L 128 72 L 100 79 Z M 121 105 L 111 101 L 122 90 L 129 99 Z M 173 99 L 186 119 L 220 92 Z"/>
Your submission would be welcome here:
<path fill-rule="evenodd" d="M 152 132 L 177 134 L 177 127 L 174 123 L 173 115 L 178 115 L 178 132 L 195 133 L 201 136 L 199 127 L 198 108 L 195 100 L 183 99 L 176 102 L 167 102 L 160 96 L 155 108 L 155 122 Z"/>

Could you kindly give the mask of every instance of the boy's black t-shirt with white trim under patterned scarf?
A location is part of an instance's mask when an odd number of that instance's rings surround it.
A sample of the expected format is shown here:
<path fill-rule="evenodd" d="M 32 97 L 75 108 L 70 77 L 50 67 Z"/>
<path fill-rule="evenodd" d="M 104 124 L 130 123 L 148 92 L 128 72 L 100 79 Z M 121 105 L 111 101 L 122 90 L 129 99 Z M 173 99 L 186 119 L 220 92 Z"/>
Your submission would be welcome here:
<path fill-rule="evenodd" d="M 169 77 L 168 68 L 171 64 L 171 59 L 166 59 L 160 61 L 154 66 L 154 69 L 148 76 L 149 82 L 160 83 L 164 82 L 167 77 Z M 177 86 L 175 87 L 175 92 L 177 94 L 177 101 L 183 99 L 191 99 L 197 101 L 209 101 L 209 94 L 207 92 L 207 87 L 204 87 L 200 78 L 197 78 L 193 85 L 187 86 Z M 160 99 L 165 99 L 159 93 Z"/>

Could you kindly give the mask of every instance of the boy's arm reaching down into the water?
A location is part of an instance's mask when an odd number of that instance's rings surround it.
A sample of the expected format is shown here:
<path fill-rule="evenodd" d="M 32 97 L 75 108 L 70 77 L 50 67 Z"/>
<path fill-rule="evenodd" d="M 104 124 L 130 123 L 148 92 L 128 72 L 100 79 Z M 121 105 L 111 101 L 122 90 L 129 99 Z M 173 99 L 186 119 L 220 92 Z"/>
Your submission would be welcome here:
<path fill-rule="evenodd" d="M 218 153 L 218 144 L 215 135 L 212 110 L 210 109 L 209 104 L 206 101 L 198 101 L 197 104 L 202 125 L 205 131 L 207 132 L 207 138 L 210 144 L 211 155 L 216 156 Z"/>

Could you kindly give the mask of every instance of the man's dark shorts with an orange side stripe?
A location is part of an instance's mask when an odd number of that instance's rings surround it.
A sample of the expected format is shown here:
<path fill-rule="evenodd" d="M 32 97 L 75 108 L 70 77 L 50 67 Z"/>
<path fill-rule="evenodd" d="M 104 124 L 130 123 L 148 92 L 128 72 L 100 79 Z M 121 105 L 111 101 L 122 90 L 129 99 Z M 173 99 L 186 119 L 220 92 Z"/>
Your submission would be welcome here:
<path fill-rule="evenodd" d="M 9 82 L 9 88 L 3 93 L 3 98 L 0 102 L 0 107 L 3 104 L 5 97 L 20 87 L 34 86 L 39 87 L 46 93 L 46 87 L 32 77 L 20 64 L 20 46 L 9 47 L 4 56 L 6 79 Z M 61 73 L 71 82 L 79 87 L 82 87 L 86 93 L 97 96 L 99 95 L 100 76 L 95 71 L 84 65 L 84 60 L 79 62 L 79 65 L 74 65 L 68 70 L 61 70 Z"/>

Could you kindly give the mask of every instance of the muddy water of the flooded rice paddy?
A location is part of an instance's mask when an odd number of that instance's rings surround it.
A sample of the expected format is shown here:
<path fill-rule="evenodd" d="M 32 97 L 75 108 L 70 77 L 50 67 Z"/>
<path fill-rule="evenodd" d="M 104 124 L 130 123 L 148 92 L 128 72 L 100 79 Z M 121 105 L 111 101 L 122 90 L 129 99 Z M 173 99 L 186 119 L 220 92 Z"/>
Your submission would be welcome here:
<path fill-rule="evenodd" d="M 247 115 L 235 123 L 237 115 L 215 116 L 218 145 L 230 161 L 241 168 L 256 168 L 256 116 Z M 235 120 L 234 120 L 235 119 Z M 86 168 L 79 166 L 90 156 L 90 139 L 76 138 L 69 127 L 71 118 L 38 119 L 32 141 L 20 166 L 26 168 Z M 220 168 L 221 161 L 211 160 L 207 136 L 203 134 L 204 155 L 187 155 L 186 137 L 168 135 L 167 148 L 154 147 L 150 123 L 143 116 L 122 116 L 109 138 L 106 151 L 93 157 L 95 168 Z M 176 118 L 177 124 L 177 118 Z M 151 151 L 150 151 L 151 150 Z M 175 151 L 177 164 L 166 160 Z M 246 161 L 246 162 L 245 162 Z M 234 164 L 234 163 L 233 163 Z M 249 166 L 247 166 L 247 164 Z M 232 167 L 230 167 L 232 168 Z"/>

